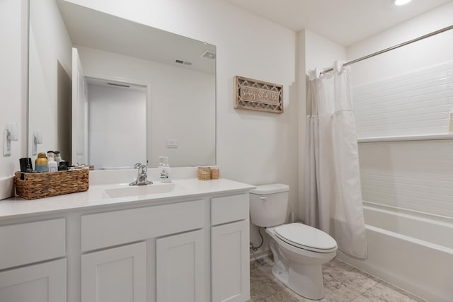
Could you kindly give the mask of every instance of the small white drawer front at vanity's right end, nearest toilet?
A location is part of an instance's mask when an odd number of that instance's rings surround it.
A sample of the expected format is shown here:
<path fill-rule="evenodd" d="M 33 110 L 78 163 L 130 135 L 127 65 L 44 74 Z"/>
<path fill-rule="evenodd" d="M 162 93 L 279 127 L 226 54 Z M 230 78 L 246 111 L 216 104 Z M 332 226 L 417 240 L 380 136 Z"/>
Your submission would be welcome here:
<path fill-rule="evenodd" d="M 248 219 L 248 193 L 211 200 L 212 225 Z"/>

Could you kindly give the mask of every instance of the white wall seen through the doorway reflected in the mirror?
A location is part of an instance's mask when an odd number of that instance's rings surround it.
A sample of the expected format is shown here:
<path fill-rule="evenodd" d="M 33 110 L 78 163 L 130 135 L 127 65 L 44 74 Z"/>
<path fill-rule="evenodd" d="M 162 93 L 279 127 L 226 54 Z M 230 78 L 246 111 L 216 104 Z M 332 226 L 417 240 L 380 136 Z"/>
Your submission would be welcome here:
<path fill-rule="evenodd" d="M 88 83 L 88 108 L 91 165 L 105 169 L 132 168 L 135 163 L 146 163 L 147 95 L 144 89 Z"/>

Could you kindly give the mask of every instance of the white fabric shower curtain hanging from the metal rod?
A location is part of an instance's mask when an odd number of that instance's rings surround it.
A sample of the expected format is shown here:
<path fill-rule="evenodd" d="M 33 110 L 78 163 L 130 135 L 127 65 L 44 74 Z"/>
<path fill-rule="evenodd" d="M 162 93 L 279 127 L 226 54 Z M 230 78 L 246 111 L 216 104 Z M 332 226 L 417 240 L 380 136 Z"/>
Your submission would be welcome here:
<path fill-rule="evenodd" d="M 350 68 L 310 71 L 306 115 L 304 218 L 329 233 L 338 248 L 367 257 Z"/>

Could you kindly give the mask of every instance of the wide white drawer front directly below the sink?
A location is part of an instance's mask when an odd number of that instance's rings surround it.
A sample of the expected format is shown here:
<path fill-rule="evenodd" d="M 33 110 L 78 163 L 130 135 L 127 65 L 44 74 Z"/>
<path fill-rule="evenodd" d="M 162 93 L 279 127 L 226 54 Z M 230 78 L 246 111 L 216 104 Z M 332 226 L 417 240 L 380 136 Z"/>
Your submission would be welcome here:
<path fill-rule="evenodd" d="M 96 250 L 205 226 L 205 202 L 180 202 L 81 217 L 81 250 Z"/>

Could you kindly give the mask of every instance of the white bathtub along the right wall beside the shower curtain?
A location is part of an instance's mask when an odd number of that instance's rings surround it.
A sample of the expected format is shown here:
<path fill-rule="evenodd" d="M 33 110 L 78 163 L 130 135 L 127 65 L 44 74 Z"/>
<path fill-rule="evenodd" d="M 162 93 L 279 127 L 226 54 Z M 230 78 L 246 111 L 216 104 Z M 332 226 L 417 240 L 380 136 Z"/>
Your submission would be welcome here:
<path fill-rule="evenodd" d="M 420 298 L 453 301 L 453 219 L 364 202 L 368 258 L 339 260 Z"/>

